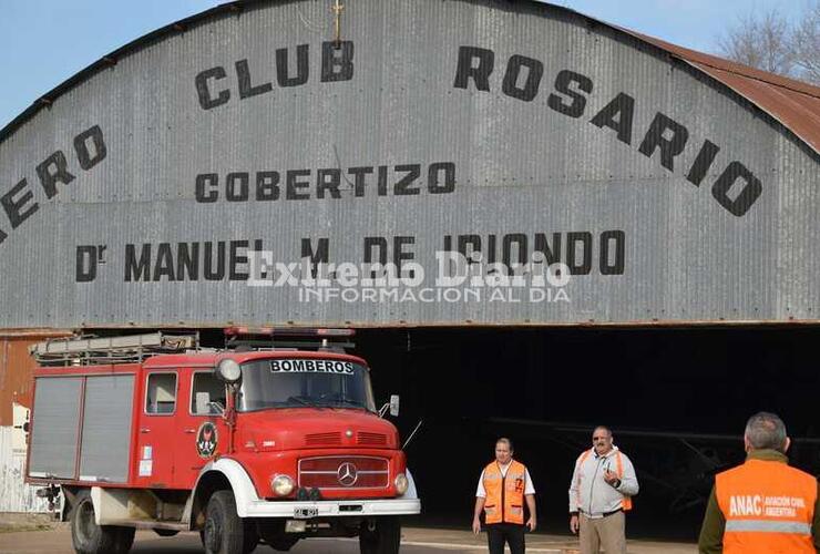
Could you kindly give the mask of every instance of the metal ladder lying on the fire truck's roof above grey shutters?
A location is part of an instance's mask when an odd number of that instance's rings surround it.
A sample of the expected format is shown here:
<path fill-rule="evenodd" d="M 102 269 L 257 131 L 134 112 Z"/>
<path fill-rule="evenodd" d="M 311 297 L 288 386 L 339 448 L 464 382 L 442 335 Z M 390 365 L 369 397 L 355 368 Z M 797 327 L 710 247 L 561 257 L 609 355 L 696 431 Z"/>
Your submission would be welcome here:
<path fill-rule="evenodd" d="M 199 349 L 198 334 L 150 332 L 124 337 L 74 336 L 50 339 L 29 347 L 40 366 L 106 366 L 141 362 L 160 353 Z"/>

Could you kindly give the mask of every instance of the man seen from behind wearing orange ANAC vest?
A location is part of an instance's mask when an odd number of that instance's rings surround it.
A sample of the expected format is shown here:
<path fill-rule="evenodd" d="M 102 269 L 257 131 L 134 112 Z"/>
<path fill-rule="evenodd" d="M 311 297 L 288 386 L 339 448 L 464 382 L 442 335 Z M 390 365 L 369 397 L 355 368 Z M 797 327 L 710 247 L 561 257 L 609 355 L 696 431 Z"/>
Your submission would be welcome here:
<path fill-rule="evenodd" d="M 698 547 L 704 554 L 814 554 L 820 550 L 818 482 L 788 465 L 791 441 L 773 413 L 749 418 L 746 462 L 718 473 Z"/>

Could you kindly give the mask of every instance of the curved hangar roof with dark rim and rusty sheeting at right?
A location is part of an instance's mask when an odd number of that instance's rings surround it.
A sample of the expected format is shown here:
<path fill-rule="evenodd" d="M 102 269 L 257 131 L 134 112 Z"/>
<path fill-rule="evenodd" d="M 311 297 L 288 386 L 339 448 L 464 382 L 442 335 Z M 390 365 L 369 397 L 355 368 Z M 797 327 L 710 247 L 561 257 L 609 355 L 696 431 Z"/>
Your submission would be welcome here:
<path fill-rule="evenodd" d="M 512 3 L 510 0 L 496 1 L 499 3 Z M 115 65 L 119 59 L 129 55 L 135 50 L 144 48 L 154 41 L 165 40 L 174 34 L 185 32 L 185 30 L 191 25 L 201 24 L 211 19 L 224 17 L 226 14 L 236 14 L 246 6 L 277 2 L 280 2 L 280 0 L 237 0 L 234 2 L 225 2 L 216 8 L 191 18 L 186 18 L 182 21 L 171 23 L 146 34 L 145 37 L 136 39 L 109 55 L 103 57 L 101 60 L 91 64 L 52 91 L 43 94 L 29 109 L 11 121 L 6 127 L 0 130 L 0 141 L 13 133 L 17 127 L 22 125 L 37 112 L 50 106 L 63 92 L 71 89 L 74 84 L 91 78 L 98 71 Z M 582 19 L 591 28 L 602 25 L 607 29 L 622 31 L 625 34 L 638 39 L 645 44 L 657 47 L 673 59 L 684 61 L 694 68 L 697 68 L 705 74 L 714 78 L 721 84 L 746 98 L 752 104 L 782 123 L 790 132 L 803 140 L 816 152 L 820 152 L 820 88 L 802 81 L 787 79 L 773 73 L 730 62 L 722 58 L 678 47 L 655 37 L 638 33 L 629 29 L 612 25 L 568 8 L 543 3 L 535 0 L 524 0 L 524 2 L 534 3 L 537 8 L 543 8 L 544 10 L 565 12 Z"/>

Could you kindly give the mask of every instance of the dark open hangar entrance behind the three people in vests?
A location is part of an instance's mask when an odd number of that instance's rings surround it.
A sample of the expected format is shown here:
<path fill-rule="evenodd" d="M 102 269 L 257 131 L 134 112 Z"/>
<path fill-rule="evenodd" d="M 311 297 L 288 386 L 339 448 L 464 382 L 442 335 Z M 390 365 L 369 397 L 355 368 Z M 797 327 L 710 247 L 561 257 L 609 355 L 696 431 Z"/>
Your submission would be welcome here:
<path fill-rule="evenodd" d="M 742 428 L 775 411 L 792 463 L 820 472 L 818 327 L 365 329 L 357 353 L 398 424 L 426 524 L 468 527 L 494 439 L 539 490 L 541 530 L 566 530 L 566 490 L 595 424 L 614 429 L 642 491 L 631 534 L 696 536 L 711 476 L 742 460 Z M 803 438 L 802 440 L 800 438 Z"/>

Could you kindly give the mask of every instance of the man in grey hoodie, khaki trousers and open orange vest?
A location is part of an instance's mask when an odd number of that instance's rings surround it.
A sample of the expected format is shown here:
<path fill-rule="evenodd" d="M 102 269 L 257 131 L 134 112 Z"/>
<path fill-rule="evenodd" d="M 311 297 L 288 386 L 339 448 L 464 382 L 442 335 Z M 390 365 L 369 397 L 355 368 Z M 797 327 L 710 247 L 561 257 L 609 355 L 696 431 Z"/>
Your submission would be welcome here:
<path fill-rule="evenodd" d="M 626 554 L 626 516 L 638 479 L 632 461 L 613 444 L 612 431 L 596 427 L 592 449 L 575 461 L 570 483 L 570 530 L 581 554 Z"/>

